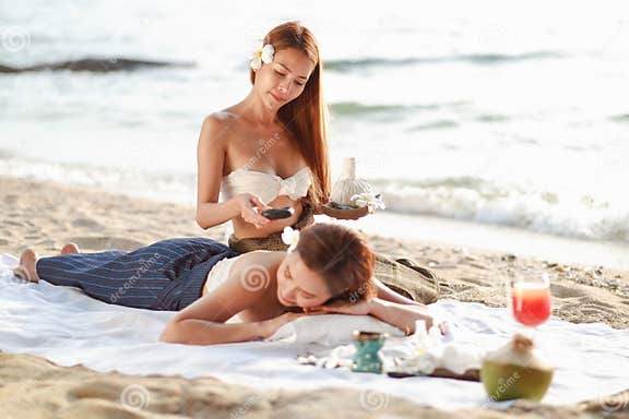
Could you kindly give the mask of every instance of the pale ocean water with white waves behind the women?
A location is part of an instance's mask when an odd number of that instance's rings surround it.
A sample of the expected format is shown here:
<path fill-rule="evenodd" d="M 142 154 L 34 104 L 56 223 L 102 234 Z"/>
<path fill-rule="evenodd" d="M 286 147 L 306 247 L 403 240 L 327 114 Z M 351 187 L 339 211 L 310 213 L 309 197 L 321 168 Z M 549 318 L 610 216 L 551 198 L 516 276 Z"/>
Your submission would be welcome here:
<path fill-rule="evenodd" d="M 0 0 L 0 65 L 190 64 L 0 73 L 0 173 L 194 204 L 201 121 L 247 95 L 256 41 L 299 20 L 321 47 L 333 177 L 355 156 L 388 204 L 364 227 L 399 236 L 373 224 L 396 219 L 404 236 L 458 242 L 467 226 L 479 244 L 477 228 L 507 228 L 523 248 L 591 243 L 629 266 L 628 12 L 622 1 Z M 428 219 L 458 227 L 426 237 Z"/>

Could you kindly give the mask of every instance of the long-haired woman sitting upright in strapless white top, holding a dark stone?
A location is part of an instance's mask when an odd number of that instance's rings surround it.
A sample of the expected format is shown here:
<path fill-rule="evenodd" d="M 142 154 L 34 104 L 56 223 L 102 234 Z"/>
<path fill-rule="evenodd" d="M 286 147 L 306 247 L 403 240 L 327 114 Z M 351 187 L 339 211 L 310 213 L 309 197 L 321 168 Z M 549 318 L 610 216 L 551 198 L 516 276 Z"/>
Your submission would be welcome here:
<path fill-rule="evenodd" d="M 285 227 L 300 230 L 313 224 L 316 213 L 334 216 L 324 205 L 330 200 L 328 110 L 317 39 L 297 22 L 281 24 L 264 36 L 250 63 L 251 91 L 205 118 L 197 151 L 197 223 L 207 229 L 230 220 L 228 244 L 238 253 L 286 250 Z M 286 206 L 293 208 L 287 218 L 261 214 Z M 376 256 L 379 297 L 394 289 L 401 302 L 438 298 L 431 272 L 407 260 Z"/>

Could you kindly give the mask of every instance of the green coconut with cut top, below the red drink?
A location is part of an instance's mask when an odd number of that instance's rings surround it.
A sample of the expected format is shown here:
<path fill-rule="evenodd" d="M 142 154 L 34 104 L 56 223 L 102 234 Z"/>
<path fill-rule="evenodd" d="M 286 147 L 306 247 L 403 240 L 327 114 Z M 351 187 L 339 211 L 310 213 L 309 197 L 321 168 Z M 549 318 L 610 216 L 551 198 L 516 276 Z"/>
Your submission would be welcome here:
<path fill-rule="evenodd" d="M 487 395 L 497 402 L 541 400 L 550 386 L 553 372 L 533 349 L 533 340 L 517 334 L 509 344 L 485 356 L 480 381 Z"/>

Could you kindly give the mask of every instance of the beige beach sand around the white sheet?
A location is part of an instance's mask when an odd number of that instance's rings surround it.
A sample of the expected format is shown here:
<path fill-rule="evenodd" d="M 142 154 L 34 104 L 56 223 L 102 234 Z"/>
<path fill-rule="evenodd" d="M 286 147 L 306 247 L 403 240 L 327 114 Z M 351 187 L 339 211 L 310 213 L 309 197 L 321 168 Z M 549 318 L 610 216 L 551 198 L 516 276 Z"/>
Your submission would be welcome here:
<path fill-rule="evenodd" d="M 19 255 L 25 248 L 39 255 L 57 254 L 67 242 L 84 251 L 132 250 L 175 237 L 210 237 L 224 241 L 223 227 L 203 231 L 194 208 L 114 195 L 95 189 L 0 177 L 0 252 Z M 629 327 L 629 273 L 604 266 L 559 264 L 518 255 L 426 242 L 369 236 L 373 248 L 431 267 L 442 296 L 462 301 L 505 306 L 505 273 L 546 272 L 551 280 L 553 313 L 577 323 L 604 322 Z M 575 406 L 518 402 L 508 410 L 443 412 L 388 397 L 368 411 L 354 390 L 287 390 L 259 392 L 212 378 L 132 376 L 100 373 L 76 366 L 56 366 L 28 355 L 0 354 L 0 406 L 7 417 L 143 418 L 198 416 L 228 418 L 328 417 L 622 417 L 629 412 L 629 391 L 617 400 L 591 400 Z M 147 406 L 121 403 L 129 385 L 150 390 Z M 609 409 L 614 406 L 614 409 Z M 624 410 L 622 410 L 624 409 Z M 612 410 L 612 411 L 608 411 Z"/>

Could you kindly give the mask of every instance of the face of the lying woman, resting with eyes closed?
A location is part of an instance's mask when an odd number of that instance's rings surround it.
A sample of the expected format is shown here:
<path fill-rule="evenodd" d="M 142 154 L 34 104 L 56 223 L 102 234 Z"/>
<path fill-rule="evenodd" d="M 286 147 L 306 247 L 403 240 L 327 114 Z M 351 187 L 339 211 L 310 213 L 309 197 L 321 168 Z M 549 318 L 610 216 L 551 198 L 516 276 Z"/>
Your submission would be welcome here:
<path fill-rule="evenodd" d="M 325 282 L 306 266 L 299 253 L 286 254 L 277 268 L 277 300 L 282 306 L 309 309 L 331 297 Z"/>

